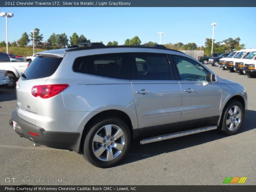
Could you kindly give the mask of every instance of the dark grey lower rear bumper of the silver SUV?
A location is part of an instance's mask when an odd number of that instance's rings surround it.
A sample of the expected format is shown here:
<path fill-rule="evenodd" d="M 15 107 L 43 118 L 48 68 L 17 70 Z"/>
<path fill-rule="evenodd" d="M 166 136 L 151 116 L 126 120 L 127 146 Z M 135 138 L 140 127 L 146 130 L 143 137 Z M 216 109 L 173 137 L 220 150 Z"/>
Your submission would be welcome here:
<path fill-rule="evenodd" d="M 17 123 L 15 132 L 21 137 L 47 147 L 68 149 L 77 153 L 80 152 L 79 149 L 82 133 L 45 131 L 42 127 L 28 123 L 18 117 L 16 110 L 12 112 L 12 118 L 9 121 L 12 128 L 13 121 Z M 36 133 L 38 136 L 31 135 L 28 132 Z"/>

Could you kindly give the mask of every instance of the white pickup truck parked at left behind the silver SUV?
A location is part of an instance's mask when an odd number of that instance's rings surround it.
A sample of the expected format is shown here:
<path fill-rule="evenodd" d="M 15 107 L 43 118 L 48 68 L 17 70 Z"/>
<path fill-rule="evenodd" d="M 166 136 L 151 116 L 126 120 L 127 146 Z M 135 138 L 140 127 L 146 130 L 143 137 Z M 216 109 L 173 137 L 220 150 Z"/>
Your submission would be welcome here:
<path fill-rule="evenodd" d="M 20 74 L 24 73 L 30 61 L 11 62 L 7 53 L 0 52 L 0 69 L 8 72 L 9 83 L 7 88 L 14 88 L 16 81 L 20 78 Z"/>

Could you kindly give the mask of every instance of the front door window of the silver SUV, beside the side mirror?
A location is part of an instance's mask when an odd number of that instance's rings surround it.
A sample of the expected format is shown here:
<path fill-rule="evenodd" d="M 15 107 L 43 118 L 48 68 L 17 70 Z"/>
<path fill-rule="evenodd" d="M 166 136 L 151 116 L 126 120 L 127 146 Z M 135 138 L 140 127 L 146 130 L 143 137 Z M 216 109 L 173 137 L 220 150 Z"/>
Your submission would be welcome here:
<path fill-rule="evenodd" d="M 209 81 L 209 73 L 201 65 L 193 60 L 172 56 L 174 64 L 177 66 L 181 81 Z"/>

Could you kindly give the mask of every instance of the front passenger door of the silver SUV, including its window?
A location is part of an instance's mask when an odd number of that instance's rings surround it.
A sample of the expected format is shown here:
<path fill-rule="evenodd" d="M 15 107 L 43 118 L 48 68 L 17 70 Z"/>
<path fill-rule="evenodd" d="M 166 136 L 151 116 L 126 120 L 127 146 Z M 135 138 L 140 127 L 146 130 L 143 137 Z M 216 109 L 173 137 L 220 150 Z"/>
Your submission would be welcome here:
<path fill-rule="evenodd" d="M 172 55 L 182 92 L 180 126 L 215 125 L 220 111 L 221 89 L 210 82 L 210 72 L 186 57 Z"/>

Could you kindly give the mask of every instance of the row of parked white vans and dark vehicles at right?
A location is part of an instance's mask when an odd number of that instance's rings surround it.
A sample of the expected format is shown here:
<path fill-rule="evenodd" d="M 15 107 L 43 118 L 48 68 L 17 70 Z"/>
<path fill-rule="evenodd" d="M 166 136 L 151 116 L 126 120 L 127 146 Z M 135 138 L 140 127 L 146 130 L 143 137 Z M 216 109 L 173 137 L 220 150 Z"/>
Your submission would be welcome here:
<path fill-rule="evenodd" d="M 204 64 L 212 64 L 212 66 L 230 70 L 232 72 L 256 77 L 256 49 L 241 49 L 231 53 L 213 53 L 218 56 L 211 57 L 207 60 L 206 57 L 198 58 Z M 203 60 L 202 60 L 203 59 Z"/>

